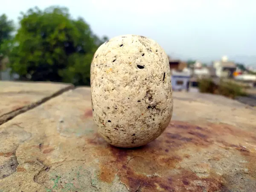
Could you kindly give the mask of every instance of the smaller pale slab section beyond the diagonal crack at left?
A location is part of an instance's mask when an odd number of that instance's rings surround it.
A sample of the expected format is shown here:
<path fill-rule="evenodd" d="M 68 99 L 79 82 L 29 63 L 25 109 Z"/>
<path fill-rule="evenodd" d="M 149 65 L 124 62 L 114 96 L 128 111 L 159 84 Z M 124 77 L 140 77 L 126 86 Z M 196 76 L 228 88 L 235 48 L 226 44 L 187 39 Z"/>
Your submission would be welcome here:
<path fill-rule="evenodd" d="M 73 85 L 0 81 L 0 125 L 70 88 L 73 88 Z"/>

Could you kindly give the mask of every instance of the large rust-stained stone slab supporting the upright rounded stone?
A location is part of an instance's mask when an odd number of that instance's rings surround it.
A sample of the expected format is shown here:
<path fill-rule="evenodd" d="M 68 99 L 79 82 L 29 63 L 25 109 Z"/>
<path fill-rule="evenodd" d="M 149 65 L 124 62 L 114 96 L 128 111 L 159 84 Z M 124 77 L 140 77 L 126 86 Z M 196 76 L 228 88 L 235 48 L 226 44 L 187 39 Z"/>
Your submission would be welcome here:
<path fill-rule="evenodd" d="M 254 192 L 256 110 L 173 93 L 166 131 L 139 148 L 96 132 L 90 88 L 52 98 L 0 125 L 0 192 Z"/>

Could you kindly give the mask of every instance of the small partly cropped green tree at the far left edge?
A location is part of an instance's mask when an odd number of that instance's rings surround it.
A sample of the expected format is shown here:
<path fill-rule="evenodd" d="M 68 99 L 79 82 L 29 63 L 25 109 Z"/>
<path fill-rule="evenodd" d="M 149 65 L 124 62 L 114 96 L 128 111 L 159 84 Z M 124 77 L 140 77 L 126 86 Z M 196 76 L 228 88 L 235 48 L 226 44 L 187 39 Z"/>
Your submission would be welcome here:
<path fill-rule="evenodd" d="M 3 58 L 5 58 L 11 49 L 12 32 L 15 27 L 12 20 L 8 20 L 5 14 L 0 16 L 0 70 Z"/>

